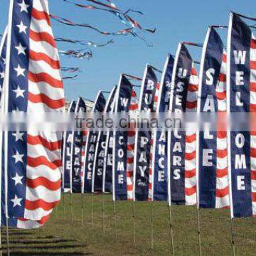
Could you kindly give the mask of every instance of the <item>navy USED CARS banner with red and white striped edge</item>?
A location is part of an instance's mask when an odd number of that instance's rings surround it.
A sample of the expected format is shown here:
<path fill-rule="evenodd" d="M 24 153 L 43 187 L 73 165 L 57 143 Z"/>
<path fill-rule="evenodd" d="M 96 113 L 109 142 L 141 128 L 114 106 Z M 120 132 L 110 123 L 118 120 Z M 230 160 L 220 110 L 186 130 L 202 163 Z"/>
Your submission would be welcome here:
<path fill-rule="evenodd" d="M 174 61 L 170 112 L 195 112 L 198 76 L 188 49 L 179 43 Z M 196 204 L 196 131 L 168 132 L 169 204 Z"/>

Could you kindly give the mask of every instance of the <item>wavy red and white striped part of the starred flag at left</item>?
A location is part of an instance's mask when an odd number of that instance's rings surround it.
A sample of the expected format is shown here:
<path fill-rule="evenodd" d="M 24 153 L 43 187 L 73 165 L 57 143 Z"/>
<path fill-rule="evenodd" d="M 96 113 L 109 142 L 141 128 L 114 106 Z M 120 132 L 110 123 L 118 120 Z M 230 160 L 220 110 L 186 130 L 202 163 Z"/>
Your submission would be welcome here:
<path fill-rule="evenodd" d="M 46 0 L 33 1 L 29 46 L 28 112 L 63 112 L 60 61 Z M 28 127 L 25 219 L 46 218 L 60 201 L 61 139 L 58 132 Z"/>

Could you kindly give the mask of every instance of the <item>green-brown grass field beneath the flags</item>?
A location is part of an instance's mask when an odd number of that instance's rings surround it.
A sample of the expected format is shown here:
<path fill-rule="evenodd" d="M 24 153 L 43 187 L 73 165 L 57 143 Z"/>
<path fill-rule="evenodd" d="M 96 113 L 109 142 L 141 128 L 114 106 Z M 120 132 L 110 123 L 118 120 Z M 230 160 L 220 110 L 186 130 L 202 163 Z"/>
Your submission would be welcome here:
<path fill-rule="evenodd" d="M 117 202 L 117 236 L 114 232 L 113 203 L 105 195 L 105 232 L 102 195 L 73 195 L 73 223 L 70 195 L 55 209 L 50 221 L 37 230 L 10 230 L 11 255 L 171 255 L 169 208 L 153 204 L 154 249 L 151 250 L 150 203 L 136 202 L 136 247 L 133 242 L 132 202 Z M 82 225 L 82 200 L 84 225 Z M 64 207 L 65 205 L 65 207 Z M 65 209 L 65 210 L 64 210 Z M 198 255 L 196 208 L 172 206 L 176 255 Z M 256 254 L 256 220 L 237 219 L 236 255 Z M 228 210 L 201 210 L 203 255 L 232 255 Z M 2 230 L 4 255 L 6 235 Z"/>

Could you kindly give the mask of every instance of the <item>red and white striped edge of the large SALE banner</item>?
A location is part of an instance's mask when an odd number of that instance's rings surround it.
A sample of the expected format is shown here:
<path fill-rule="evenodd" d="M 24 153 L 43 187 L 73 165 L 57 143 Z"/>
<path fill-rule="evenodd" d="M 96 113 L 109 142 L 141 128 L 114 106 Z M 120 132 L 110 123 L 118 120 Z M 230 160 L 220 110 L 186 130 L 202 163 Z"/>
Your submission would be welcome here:
<path fill-rule="evenodd" d="M 220 67 L 220 75 L 216 85 L 216 97 L 218 101 L 217 124 L 217 151 L 216 151 L 216 191 L 215 208 L 228 208 L 230 206 L 228 187 L 228 141 L 227 132 L 221 123 L 225 119 L 226 107 L 226 74 L 227 74 L 227 54 L 223 52 L 223 61 Z"/>

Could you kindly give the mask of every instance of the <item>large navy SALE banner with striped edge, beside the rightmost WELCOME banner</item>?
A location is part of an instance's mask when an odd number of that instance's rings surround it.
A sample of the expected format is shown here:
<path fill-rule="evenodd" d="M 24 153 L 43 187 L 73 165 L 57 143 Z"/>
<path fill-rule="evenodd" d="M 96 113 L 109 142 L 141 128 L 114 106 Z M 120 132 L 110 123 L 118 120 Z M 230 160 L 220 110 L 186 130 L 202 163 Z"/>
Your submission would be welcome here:
<path fill-rule="evenodd" d="M 225 110 L 225 61 L 223 61 L 225 57 L 220 36 L 213 27 L 209 27 L 201 58 L 198 90 L 199 117 L 201 112 L 223 111 L 223 104 Z M 229 206 L 225 133 L 225 131 L 218 131 L 218 126 L 210 129 L 210 125 L 205 125 L 203 131 L 197 132 L 196 175 L 199 208 Z"/>

